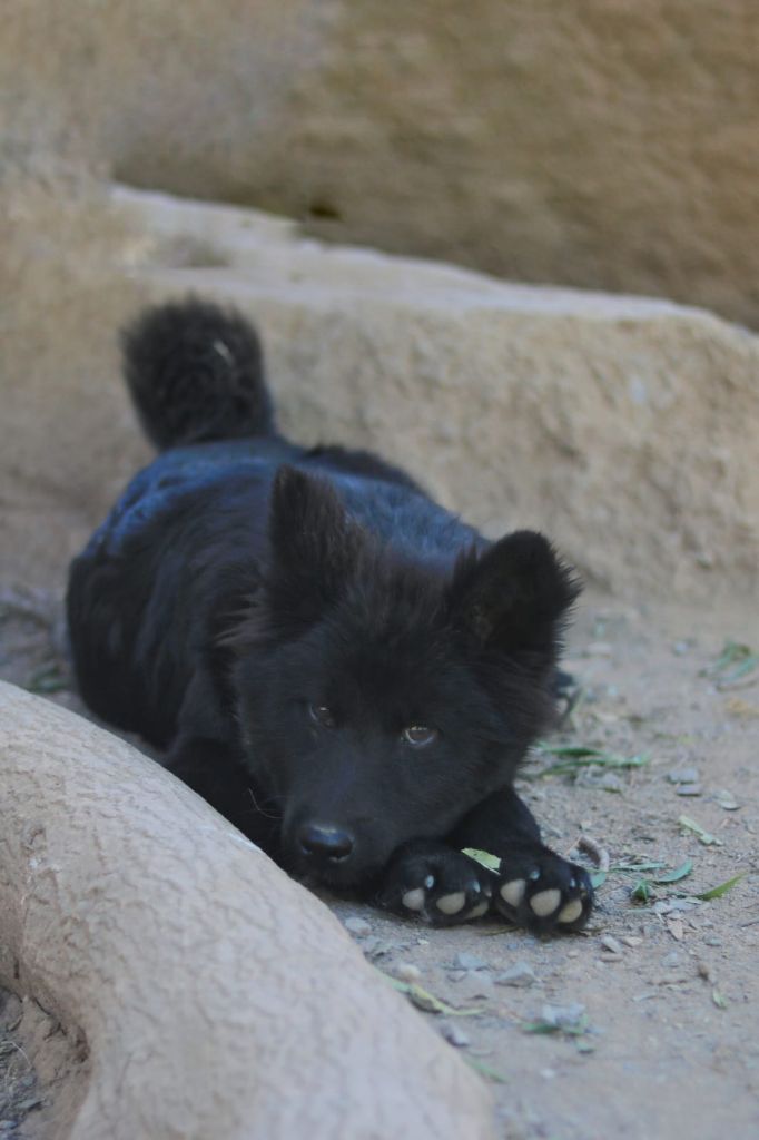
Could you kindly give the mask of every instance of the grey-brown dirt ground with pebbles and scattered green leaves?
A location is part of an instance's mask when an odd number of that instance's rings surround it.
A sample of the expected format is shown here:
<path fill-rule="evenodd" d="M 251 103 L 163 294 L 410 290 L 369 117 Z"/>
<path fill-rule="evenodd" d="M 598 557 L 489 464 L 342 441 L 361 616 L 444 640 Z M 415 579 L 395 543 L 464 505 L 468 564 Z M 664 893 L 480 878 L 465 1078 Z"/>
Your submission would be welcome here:
<path fill-rule="evenodd" d="M 748 606 L 581 605 L 580 693 L 547 747 L 597 754 L 541 751 L 521 790 L 557 850 L 609 855 L 585 934 L 431 930 L 326 899 L 409 1000 L 443 1003 L 419 1016 L 492 1082 L 504 1140 L 759 1135 L 759 662 L 718 668 L 729 641 L 759 645 Z M 0 594 L 0 676 L 81 711 L 57 596 Z M 0 997 L 0 1138 L 44 1140 L 65 1066 L 19 1012 Z"/>

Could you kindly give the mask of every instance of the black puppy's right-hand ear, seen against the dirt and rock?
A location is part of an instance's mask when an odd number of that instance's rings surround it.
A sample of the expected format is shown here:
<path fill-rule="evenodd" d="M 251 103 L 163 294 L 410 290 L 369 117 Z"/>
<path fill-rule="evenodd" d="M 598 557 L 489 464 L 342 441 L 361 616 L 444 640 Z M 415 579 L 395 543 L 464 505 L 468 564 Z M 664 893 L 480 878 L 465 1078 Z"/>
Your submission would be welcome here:
<path fill-rule="evenodd" d="M 542 671 L 556 661 L 581 588 L 542 535 L 517 530 L 483 554 L 459 560 L 450 606 L 455 624 L 479 645 Z"/>

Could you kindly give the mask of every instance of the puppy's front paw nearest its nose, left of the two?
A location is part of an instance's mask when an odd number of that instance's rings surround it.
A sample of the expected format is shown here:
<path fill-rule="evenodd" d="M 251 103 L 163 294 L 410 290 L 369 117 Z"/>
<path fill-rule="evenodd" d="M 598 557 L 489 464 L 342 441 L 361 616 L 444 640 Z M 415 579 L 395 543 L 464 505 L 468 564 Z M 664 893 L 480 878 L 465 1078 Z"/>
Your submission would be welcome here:
<path fill-rule="evenodd" d="M 391 860 L 377 904 L 432 926 L 479 919 L 490 910 L 496 876 L 444 844 L 409 844 Z"/>

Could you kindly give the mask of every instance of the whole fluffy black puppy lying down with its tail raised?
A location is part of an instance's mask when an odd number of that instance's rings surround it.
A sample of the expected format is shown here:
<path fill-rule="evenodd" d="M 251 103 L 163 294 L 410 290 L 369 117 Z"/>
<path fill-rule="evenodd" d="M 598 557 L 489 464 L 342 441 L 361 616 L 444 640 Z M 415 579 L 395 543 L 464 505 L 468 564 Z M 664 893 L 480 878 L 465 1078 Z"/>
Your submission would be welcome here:
<path fill-rule="evenodd" d="M 71 569 L 88 705 L 294 874 L 435 925 L 583 926 L 586 872 L 512 787 L 579 593 L 550 545 L 489 543 L 376 456 L 283 439 L 234 314 L 166 304 L 123 343 L 163 454 Z"/>

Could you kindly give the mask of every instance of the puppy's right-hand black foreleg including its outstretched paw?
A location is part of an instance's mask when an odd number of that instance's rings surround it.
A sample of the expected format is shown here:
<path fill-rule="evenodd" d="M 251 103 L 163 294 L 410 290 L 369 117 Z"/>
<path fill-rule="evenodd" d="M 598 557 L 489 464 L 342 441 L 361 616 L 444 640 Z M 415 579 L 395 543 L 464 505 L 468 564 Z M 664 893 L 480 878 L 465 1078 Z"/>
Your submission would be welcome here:
<path fill-rule="evenodd" d="M 500 860 L 493 906 L 537 934 L 579 930 L 593 909 L 593 886 L 581 866 L 546 847 L 529 807 L 513 788 L 479 804 L 449 837 Z"/>

